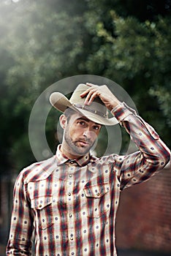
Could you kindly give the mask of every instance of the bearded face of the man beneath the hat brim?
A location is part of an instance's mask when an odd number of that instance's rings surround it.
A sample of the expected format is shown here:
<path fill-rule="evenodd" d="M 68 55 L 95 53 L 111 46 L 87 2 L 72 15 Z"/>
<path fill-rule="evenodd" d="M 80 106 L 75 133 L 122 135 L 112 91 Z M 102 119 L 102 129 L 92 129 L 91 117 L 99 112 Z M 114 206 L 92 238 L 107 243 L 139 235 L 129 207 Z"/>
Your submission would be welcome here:
<path fill-rule="evenodd" d="M 65 151 L 77 157 L 87 154 L 94 146 L 101 127 L 80 113 L 72 115 L 64 128 Z"/>

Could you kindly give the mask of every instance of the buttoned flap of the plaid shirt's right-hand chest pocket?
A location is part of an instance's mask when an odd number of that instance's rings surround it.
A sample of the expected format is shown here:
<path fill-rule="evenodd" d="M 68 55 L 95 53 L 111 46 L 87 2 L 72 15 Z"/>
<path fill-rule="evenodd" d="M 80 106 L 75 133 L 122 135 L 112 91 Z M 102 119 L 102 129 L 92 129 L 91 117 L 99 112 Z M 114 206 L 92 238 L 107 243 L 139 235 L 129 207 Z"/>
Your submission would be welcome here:
<path fill-rule="evenodd" d="M 108 184 L 97 184 L 84 188 L 84 192 L 86 197 L 102 197 L 102 195 L 106 194 L 110 190 Z"/>

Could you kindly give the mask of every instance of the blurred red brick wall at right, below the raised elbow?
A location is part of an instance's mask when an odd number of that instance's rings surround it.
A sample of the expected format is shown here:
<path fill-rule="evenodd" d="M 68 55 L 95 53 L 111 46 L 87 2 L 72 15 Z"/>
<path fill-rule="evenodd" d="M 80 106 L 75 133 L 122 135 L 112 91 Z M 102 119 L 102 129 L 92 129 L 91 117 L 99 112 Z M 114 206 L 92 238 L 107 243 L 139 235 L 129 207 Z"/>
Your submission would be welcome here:
<path fill-rule="evenodd" d="M 121 192 L 116 244 L 123 249 L 171 252 L 171 167 Z"/>

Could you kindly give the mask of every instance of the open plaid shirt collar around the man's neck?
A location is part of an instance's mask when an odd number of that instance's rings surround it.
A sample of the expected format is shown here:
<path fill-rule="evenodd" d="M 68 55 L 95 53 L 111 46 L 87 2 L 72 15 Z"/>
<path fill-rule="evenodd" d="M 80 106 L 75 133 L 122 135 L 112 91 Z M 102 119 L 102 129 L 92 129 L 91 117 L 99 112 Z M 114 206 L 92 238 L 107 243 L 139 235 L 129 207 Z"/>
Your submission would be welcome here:
<path fill-rule="evenodd" d="M 89 153 L 77 159 L 69 159 L 68 157 L 64 156 L 60 148 L 61 148 L 61 145 L 58 145 L 56 150 L 57 165 L 62 165 L 66 162 L 76 162 L 77 165 L 84 166 L 84 165 L 87 165 L 88 162 L 90 161 L 91 157 Z"/>

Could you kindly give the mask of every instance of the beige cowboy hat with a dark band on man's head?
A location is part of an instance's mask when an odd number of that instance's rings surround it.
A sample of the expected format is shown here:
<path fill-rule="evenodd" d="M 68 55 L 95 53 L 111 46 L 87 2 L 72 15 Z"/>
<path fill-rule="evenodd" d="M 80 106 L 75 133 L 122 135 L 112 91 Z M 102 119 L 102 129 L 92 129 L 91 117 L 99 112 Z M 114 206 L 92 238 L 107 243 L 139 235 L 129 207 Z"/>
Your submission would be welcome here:
<path fill-rule="evenodd" d="M 80 83 L 70 99 L 67 99 L 64 94 L 60 92 L 53 92 L 50 95 L 50 103 L 61 112 L 64 112 L 66 108 L 72 108 L 97 124 L 118 124 L 118 120 L 115 117 L 109 118 L 108 110 L 99 97 L 94 99 L 91 105 L 84 105 L 85 97 L 80 97 L 80 94 L 88 88 L 89 86 L 86 86 L 86 84 Z"/>

